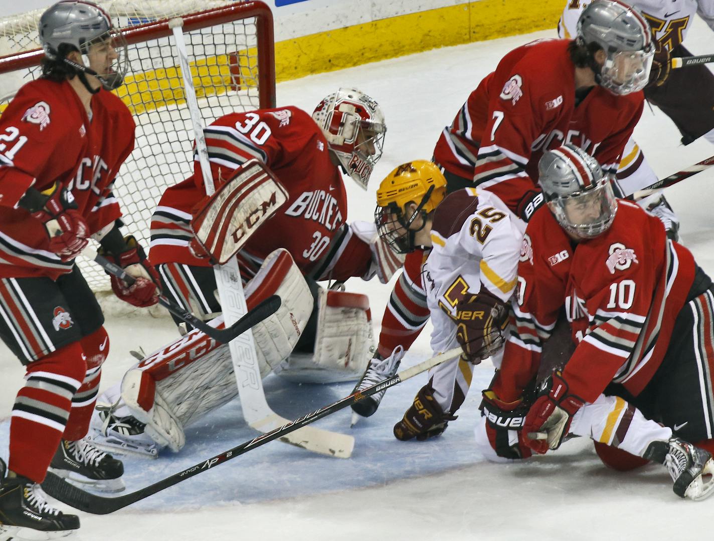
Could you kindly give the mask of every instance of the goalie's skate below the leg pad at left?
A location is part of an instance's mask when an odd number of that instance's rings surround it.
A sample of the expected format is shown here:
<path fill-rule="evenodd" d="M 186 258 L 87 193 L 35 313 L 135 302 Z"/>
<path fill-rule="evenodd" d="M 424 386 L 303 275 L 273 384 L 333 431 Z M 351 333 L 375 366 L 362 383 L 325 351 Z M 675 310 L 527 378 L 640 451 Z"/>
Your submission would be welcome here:
<path fill-rule="evenodd" d="M 161 446 L 144 432 L 145 426 L 132 415 L 119 417 L 111 406 L 97 404 L 86 439 L 106 452 L 157 458 Z"/>

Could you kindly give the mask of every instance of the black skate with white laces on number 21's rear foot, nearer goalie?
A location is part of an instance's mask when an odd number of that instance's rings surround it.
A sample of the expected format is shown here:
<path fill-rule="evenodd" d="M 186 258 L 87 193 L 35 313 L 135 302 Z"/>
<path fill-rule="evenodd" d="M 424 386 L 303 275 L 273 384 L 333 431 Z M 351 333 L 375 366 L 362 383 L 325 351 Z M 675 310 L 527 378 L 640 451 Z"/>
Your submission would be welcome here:
<path fill-rule="evenodd" d="M 67 480 L 71 485 L 90 487 L 100 492 L 124 490 L 124 465 L 84 438 L 78 441 L 61 440 L 49 471 Z"/>

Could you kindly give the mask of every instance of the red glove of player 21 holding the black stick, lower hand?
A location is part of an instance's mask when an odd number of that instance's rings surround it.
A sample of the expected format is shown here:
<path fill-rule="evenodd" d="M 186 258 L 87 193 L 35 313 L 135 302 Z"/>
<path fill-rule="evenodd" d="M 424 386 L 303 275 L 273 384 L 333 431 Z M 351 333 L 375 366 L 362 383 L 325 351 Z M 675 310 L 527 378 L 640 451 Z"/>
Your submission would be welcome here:
<path fill-rule="evenodd" d="M 136 278 L 133 284 L 126 285 L 124 280 L 110 275 L 111 289 L 114 295 L 131 305 L 139 308 L 153 306 L 159 302 L 161 293 L 159 273 L 156 273 L 156 269 L 146 258 L 144 248 L 141 248 L 141 244 L 133 235 L 124 237 L 124 242 L 126 249 L 120 253 L 109 253 L 104 248 L 99 249 L 101 256 L 124 268 L 132 278 Z"/>

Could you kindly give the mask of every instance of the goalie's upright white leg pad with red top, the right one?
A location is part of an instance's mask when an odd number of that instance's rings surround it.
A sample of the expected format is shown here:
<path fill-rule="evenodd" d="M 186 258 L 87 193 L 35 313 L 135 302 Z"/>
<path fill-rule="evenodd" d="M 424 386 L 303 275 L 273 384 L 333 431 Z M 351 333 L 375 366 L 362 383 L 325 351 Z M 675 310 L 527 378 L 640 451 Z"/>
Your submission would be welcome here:
<path fill-rule="evenodd" d="M 367 295 L 321 288 L 317 310 L 312 355 L 293 354 L 276 373 L 306 383 L 356 380 L 376 351 Z"/>

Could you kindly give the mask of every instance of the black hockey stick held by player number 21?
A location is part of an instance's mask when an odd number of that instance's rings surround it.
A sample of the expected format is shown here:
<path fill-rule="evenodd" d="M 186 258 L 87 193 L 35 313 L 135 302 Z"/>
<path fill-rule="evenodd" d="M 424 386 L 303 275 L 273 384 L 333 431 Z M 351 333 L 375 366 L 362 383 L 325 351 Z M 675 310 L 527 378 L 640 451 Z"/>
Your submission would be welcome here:
<path fill-rule="evenodd" d="M 121 268 L 119 265 L 111 263 L 111 261 L 109 261 L 109 259 L 105 258 L 104 256 L 100 256 L 98 253 L 96 253 L 96 250 L 94 250 L 94 248 L 91 248 L 89 246 L 87 248 L 84 248 L 82 255 L 86 256 L 87 258 L 93 259 L 96 263 L 99 264 L 99 266 L 101 266 L 101 268 L 104 268 L 106 272 L 116 276 L 116 278 L 119 278 L 119 280 L 123 280 L 126 285 L 131 285 L 136 281 L 136 278 L 134 278 L 134 276 L 127 274 L 126 270 Z M 262 320 L 273 315 L 276 310 L 280 308 L 280 303 L 281 300 L 278 295 L 271 295 L 265 300 L 262 300 L 261 303 L 258 303 L 258 305 L 253 308 L 253 310 L 248 311 L 248 313 L 243 315 L 241 319 L 236 321 L 236 323 L 233 323 L 233 325 L 231 325 L 230 327 L 217 329 L 215 327 L 211 327 L 211 325 L 207 325 L 205 322 L 203 322 L 203 320 L 196 318 L 196 316 L 193 315 L 191 312 L 188 312 L 188 310 L 183 310 L 181 306 L 167 299 L 163 295 L 159 296 L 159 304 L 161 306 L 164 306 L 166 310 L 169 310 L 169 312 L 176 315 L 177 318 L 186 321 L 188 325 L 192 325 L 193 327 L 200 330 L 201 333 L 210 336 L 211 338 L 213 338 L 213 340 L 216 340 L 216 342 L 220 342 L 221 344 L 229 343 L 231 340 L 233 340 L 233 338 L 237 338 L 241 334 L 246 333 L 253 326 L 258 325 L 258 323 L 260 323 Z"/>

